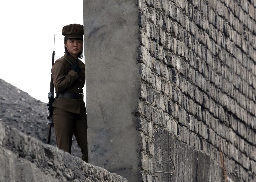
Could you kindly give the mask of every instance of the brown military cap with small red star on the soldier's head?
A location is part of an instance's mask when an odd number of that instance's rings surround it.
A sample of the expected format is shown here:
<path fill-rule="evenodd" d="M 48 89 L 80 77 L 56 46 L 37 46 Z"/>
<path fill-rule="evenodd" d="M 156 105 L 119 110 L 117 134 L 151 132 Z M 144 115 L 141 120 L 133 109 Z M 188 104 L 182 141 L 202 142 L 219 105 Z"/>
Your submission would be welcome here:
<path fill-rule="evenodd" d="M 70 24 L 62 28 L 62 35 L 67 38 L 83 37 L 84 26 L 80 24 Z"/>

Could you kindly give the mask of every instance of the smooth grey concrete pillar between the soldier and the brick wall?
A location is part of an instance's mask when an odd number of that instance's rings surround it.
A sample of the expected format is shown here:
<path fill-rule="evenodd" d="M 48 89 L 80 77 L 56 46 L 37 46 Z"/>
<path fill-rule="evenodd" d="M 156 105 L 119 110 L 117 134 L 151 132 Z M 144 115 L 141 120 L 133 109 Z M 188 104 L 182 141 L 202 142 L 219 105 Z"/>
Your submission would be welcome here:
<path fill-rule="evenodd" d="M 136 0 L 84 0 L 89 163 L 141 181 Z"/>

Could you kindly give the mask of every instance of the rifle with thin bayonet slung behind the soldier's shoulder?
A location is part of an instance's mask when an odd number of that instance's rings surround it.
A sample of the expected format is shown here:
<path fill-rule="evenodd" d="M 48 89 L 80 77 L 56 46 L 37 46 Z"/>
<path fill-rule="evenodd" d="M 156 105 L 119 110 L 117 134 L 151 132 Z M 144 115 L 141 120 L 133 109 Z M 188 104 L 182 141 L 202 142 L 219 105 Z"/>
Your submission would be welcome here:
<path fill-rule="evenodd" d="M 54 43 L 53 43 L 53 52 L 52 52 L 52 66 L 54 64 L 54 55 L 55 55 L 55 51 L 54 51 L 54 45 L 55 45 L 55 34 L 54 34 Z M 48 107 L 48 115 L 47 115 L 47 136 L 46 136 L 46 143 L 49 144 L 51 143 L 51 131 L 52 131 L 52 126 L 53 126 L 53 122 L 52 122 L 52 103 L 54 102 L 54 85 L 53 85 L 53 80 L 52 80 L 52 74 L 51 74 L 51 82 L 50 82 L 50 92 L 48 94 L 48 99 L 49 99 L 49 103 L 47 104 Z"/>

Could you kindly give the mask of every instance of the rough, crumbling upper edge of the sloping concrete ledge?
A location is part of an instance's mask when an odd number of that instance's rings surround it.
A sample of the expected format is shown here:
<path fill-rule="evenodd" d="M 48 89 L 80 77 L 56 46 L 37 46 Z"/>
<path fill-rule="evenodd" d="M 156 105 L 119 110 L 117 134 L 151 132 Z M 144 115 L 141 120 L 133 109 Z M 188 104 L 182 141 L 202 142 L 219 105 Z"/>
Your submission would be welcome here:
<path fill-rule="evenodd" d="M 5 126 L 2 122 L 0 122 L 0 149 L 0 158 L 6 157 L 6 152 L 13 156 L 9 152 L 11 151 L 17 158 L 29 161 L 33 166 L 36 166 L 35 171 L 43 172 L 47 178 L 52 176 L 54 181 L 127 181 L 126 178 L 86 163 L 57 147 L 43 144 L 35 138 Z M 10 164 L 9 161 L 2 162 Z M 6 173 L 8 166 L 11 165 L 1 165 L 0 174 Z"/>

